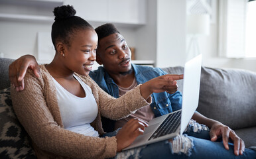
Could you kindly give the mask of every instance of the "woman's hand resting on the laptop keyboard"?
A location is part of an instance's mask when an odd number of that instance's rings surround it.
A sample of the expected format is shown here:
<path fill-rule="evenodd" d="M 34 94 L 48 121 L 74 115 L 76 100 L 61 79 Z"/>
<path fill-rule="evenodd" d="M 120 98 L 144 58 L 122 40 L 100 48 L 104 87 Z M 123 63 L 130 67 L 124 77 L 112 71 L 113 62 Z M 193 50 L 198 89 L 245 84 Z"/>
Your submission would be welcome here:
<path fill-rule="evenodd" d="M 131 119 L 123 125 L 122 129 L 115 136 L 117 138 L 117 152 L 133 143 L 137 136 L 143 134 L 145 127 L 149 127 L 149 125 L 139 119 Z"/>

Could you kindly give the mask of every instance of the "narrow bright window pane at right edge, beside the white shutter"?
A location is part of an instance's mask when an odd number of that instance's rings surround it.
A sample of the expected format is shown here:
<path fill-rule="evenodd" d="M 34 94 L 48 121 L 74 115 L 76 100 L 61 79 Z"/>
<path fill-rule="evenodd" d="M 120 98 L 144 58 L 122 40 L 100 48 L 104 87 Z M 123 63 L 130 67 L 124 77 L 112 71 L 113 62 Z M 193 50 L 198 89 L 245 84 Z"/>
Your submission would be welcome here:
<path fill-rule="evenodd" d="M 245 58 L 256 58 L 256 1 L 247 3 Z"/>

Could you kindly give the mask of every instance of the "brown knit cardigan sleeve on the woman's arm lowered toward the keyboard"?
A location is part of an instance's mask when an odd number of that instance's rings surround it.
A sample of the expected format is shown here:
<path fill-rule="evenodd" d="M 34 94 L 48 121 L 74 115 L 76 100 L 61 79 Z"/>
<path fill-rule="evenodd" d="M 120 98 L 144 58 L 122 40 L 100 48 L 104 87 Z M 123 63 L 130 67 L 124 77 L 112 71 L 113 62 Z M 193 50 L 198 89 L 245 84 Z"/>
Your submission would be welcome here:
<path fill-rule="evenodd" d="M 110 158 L 115 156 L 115 137 L 91 137 L 64 129 L 58 119 L 58 101 L 52 95 L 52 82 L 41 70 L 40 78 L 31 71 L 25 76 L 25 89 L 11 89 L 13 108 L 32 142 L 43 152 L 66 158 Z M 56 107 L 56 109 L 52 109 Z M 61 121 L 60 121 L 61 122 Z"/>

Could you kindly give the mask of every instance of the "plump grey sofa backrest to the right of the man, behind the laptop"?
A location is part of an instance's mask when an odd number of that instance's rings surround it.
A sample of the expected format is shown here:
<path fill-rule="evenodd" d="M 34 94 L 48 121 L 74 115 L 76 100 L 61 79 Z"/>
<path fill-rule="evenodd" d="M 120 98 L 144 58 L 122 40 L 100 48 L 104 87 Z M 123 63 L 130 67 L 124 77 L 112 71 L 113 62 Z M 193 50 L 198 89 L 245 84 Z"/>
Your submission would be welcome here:
<path fill-rule="evenodd" d="M 183 74 L 182 67 L 163 68 Z M 197 111 L 231 127 L 256 126 L 256 73 L 247 70 L 202 67 Z M 182 92 L 182 80 L 178 90 Z"/>

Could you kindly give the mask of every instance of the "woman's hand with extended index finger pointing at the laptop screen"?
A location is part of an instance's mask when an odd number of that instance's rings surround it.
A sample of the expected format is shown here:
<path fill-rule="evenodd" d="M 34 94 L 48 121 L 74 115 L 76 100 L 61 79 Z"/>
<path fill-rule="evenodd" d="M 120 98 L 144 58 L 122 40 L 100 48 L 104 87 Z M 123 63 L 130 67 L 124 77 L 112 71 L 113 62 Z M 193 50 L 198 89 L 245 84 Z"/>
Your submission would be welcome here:
<path fill-rule="evenodd" d="M 160 93 L 162 91 L 174 93 L 172 89 L 173 87 L 177 87 L 176 80 L 179 79 L 183 79 L 183 75 L 166 74 L 157 78 L 153 78 L 141 85 L 141 95 L 144 97 L 144 99 L 148 99 L 149 95 L 151 95 L 152 93 Z"/>

